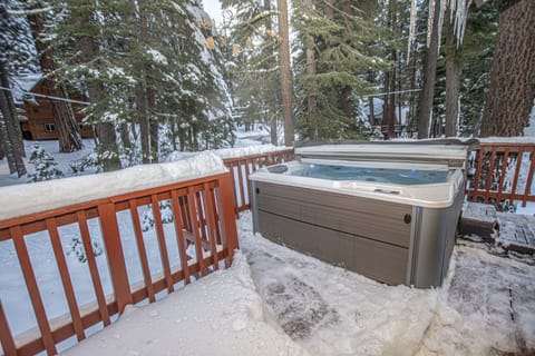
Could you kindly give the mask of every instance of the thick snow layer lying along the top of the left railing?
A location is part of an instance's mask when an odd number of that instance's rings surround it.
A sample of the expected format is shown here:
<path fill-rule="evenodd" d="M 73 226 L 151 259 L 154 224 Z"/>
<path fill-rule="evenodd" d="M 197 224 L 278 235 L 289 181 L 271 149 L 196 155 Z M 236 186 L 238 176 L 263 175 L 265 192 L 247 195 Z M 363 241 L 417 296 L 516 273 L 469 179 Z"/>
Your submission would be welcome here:
<path fill-rule="evenodd" d="M 0 188 L 0 219 L 111 197 L 226 171 L 223 160 L 205 151 L 159 165 Z"/>

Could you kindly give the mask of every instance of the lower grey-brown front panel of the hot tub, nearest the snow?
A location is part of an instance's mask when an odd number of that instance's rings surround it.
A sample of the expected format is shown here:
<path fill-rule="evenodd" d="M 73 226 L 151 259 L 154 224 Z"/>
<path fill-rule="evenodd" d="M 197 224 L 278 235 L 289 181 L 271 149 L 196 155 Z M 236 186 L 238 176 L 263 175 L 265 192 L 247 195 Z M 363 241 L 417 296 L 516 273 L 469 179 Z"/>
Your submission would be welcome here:
<path fill-rule="evenodd" d="M 406 281 L 408 249 L 259 211 L 259 229 L 278 244 L 399 285 Z"/>

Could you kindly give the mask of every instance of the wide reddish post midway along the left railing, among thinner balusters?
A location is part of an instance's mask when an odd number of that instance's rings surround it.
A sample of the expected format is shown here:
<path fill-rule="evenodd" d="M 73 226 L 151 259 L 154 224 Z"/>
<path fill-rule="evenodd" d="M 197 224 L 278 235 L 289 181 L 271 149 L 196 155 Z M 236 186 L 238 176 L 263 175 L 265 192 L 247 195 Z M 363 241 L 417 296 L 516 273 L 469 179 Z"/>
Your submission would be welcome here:
<path fill-rule="evenodd" d="M 120 244 L 119 227 L 117 225 L 117 215 L 113 202 L 98 206 L 100 216 L 100 227 L 106 245 L 109 273 L 114 285 L 115 300 L 119 313 L 123 313 L 127 304 L 132 304 L 130 285 L 126 273 L 125 255 Z"/>

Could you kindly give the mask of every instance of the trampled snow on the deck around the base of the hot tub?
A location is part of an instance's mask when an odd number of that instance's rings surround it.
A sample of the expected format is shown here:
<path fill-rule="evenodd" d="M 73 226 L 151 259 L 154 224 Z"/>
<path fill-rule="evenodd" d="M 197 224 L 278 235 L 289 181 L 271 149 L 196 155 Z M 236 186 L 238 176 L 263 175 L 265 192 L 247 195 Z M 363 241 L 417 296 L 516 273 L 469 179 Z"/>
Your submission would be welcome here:
<path fill-rule="evenodd" d="M 273 325 L 312 355 L 531 355 L 535 266 L 455 247 L 441 288 L 387 286 L 275 245 L 239 220 Z"/>

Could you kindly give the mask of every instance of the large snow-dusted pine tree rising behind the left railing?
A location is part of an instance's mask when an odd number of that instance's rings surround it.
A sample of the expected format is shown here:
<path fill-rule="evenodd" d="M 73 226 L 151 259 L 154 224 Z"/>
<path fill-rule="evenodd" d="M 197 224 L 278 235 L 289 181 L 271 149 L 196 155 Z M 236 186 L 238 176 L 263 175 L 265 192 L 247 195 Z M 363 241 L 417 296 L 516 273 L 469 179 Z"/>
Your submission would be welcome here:
<path fill-rule="evenodd" d="M 68 3 L 75 16 L 57 28 L 65 43 L 64 75 L 88 88 L 87 120 L 97 126 L 103 157 L 154 162 L 176 140 L 181 149 L 197 150 L 227 139 L 220 53 L 207 46 L 213 29 L 197 2 Z M 82 43 L 81 56 L 75 40 Z M 172 144 L 164 145 L 162 135 Z"/>

